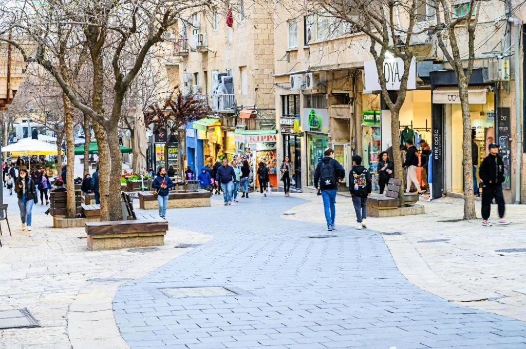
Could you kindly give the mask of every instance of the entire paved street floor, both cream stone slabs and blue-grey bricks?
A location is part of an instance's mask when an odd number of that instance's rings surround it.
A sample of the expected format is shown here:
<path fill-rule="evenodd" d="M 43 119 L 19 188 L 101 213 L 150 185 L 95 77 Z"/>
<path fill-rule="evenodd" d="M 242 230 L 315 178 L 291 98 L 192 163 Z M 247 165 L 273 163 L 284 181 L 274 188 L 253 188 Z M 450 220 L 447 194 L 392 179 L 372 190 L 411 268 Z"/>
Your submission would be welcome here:
<path fill-rule="evenodd" d="M 526 347 L 526 253 L 494 252 L 526 247 L 523 206 L 508 227 L 451 221 L 461 201 L 442 199 L 356 230 L 337 201 L 329 233 L 313 194 L 214 196 L 168 210 L 166 245 L 133 253 L 87 251 L 84 229 L 50 228 L 41 205 L 19 231 L 6 197 L 0 311 L 39 327 L 0 330 L 0 348 Z"/>

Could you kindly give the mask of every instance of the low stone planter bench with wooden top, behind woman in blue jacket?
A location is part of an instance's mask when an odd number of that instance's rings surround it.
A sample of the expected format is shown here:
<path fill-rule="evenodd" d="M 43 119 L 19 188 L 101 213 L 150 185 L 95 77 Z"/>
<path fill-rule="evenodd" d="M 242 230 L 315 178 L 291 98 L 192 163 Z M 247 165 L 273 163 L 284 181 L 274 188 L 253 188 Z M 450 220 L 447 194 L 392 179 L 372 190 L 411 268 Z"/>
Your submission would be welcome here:
<path fill-rule="evenodd" d="M 157 197 L 152 192 L 139 192 L 139 207 L 142 209 L 158 209 Z M 204 189 L 170 191 L 167 208 L 209 207 L 212 193 Z"/>

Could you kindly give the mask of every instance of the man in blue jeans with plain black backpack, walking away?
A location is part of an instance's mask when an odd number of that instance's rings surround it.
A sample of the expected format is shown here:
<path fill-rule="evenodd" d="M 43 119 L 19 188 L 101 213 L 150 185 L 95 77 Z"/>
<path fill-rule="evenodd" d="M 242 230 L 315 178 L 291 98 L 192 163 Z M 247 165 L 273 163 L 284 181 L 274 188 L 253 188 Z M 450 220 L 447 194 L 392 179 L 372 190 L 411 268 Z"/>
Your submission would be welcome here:
<path fill-rule="evenodd" d="M 327 231 L 335 229 L 334 221 L 336 218 L 336 193 L 341 179 L 345 177 L 343 166 L 335 160 L 334 150 L 327 148 L 321 162 L 316 166 L 314 173 L 314 186 L 321 190 L 323 199 L 323 210 L 327 220 Z"/>

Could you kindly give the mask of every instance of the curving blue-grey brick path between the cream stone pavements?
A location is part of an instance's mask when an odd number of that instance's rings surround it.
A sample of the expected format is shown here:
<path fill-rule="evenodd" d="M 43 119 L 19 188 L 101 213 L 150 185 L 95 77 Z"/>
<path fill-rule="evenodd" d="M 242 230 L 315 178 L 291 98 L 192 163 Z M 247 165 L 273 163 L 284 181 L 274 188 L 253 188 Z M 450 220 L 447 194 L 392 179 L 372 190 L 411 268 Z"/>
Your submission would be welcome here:
<path fill-rule="evenodd" d="M 410 284 L 378 232 L 339 226 L 335 238 L 308 238 L 324 227 L 280 217 L 302 200 L 240 200 L 169 211 L 172 225 L 214 240 L 120 287 L 114 315 L 131 348 L 526 347 L 526 323 Z M 163 292 L 205 286 L 238 295 Z"/>

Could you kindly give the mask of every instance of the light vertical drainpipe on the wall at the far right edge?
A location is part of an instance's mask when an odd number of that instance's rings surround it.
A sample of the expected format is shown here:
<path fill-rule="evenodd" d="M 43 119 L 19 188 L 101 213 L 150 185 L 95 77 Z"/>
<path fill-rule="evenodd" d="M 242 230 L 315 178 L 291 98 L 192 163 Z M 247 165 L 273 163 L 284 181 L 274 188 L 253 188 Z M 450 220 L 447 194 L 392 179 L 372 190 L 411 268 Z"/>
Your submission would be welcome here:
<path fill-rule="evenodd" d="M 522 165 L 522 134 L 521 134 L 521 109 L 520 109 L 520 79 L 519 79 L 519 26 L 521 24 L 520 20 L 517 18 L 510 17 L 508 22 L 513 24 L 513 78 L 515 79 L 515 130 L 517 135 L 515 136 L 515 167 L 517 168 L 517 173 L 515 174 L 515 204 L 521 203 L 521 165 Z"/>

